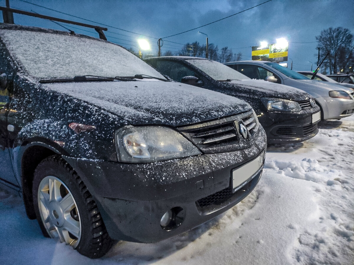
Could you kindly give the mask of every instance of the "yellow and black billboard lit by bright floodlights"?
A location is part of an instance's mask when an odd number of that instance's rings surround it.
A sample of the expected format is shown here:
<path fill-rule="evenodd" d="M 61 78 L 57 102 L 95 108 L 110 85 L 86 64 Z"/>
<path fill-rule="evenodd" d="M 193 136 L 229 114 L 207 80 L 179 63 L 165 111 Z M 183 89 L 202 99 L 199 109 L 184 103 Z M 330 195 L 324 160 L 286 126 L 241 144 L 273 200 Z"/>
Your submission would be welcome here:
<path fill-rule="evenodd" d="M 269 44 L 266 47 L 252 47 L 253 61 L 285 62 L 288 60 L 288 45 Z"/>

